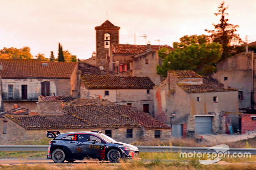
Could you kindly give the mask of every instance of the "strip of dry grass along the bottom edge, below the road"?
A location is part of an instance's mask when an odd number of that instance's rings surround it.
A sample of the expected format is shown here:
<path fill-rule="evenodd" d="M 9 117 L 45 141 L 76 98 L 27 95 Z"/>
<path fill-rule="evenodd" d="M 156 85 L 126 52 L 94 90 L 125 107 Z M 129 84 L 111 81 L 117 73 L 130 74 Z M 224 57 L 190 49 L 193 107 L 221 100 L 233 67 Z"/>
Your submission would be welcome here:
<path fill-rule="evenodd" d="M 0 170 L 256 170 L 256 164 L 234 164 L 234 165 L 201 165 L 196 162 L 191 161 L 188 164 L 181 162 L 172 163 L 143 163 L 141 161 L 134 161 L 132 163 L 120 163 L 120 164 L 105 164 L 105 163 L 94 163 L 94 164 L 25 164 L 25 165 L 0 165 Z"/>

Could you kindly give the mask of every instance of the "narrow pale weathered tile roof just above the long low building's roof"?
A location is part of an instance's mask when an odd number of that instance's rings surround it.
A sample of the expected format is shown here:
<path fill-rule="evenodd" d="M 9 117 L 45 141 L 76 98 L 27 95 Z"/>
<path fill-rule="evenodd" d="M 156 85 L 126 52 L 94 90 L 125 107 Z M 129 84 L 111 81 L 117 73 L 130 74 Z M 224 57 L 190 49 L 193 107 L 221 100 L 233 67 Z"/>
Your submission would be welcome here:
<path fill-rule="evenodd" d="M 103 105 L 103 106 L 110 106 L 110 105 L 117 105 L 108 100 L 98 100 L 98 99 L 74 99 L 65 102 L 67 105 L 72 106 L 84 106 L 84 105 Z"/>

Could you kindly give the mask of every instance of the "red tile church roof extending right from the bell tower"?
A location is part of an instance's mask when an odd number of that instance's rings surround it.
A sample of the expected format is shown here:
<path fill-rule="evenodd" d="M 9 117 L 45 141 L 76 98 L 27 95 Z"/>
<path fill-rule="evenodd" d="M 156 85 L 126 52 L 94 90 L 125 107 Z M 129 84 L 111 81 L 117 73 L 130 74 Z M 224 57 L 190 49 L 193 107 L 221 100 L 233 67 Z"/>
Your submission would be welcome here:
<path fill-rule="evenodd" d="M 161 48 L 168 48 L 174 50 L 174 48 L 167 45 L 151 45 L 151 49 L 159 50 Z M 137 54 L 147 50 L 147 45 L 135 45 L 135 44 L 111 44 L 113 54 Z"/>

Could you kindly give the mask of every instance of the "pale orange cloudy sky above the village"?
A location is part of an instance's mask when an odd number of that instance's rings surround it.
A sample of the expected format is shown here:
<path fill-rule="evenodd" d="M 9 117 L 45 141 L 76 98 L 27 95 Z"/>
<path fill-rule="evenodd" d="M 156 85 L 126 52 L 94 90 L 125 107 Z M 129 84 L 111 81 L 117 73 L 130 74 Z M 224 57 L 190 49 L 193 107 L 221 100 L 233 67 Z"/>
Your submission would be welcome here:
<path fill-rule="evenodd" d="M 50 51 L 58 56 L 58 42 L 77 58 L 95 51 L 95 26 L 108 20 L 120 26 L 119 43 L 152 45 L 179 41 L 183 35 L 207 34 L 220 16 L 214 16 L 221 0 L 0 0 L 0 49 L 28 46 L 31 54 Z M 239 25 L 245 41 L 256 41 L 254 0 L 226 0 L 229 23 Z"/>

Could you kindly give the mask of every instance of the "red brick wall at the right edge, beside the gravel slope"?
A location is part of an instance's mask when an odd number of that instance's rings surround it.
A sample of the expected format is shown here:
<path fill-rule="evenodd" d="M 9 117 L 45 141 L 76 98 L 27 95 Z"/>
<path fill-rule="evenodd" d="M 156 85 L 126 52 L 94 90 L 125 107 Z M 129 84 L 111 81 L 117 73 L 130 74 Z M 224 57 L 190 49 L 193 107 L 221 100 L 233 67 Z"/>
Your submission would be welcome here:
<path fill-rule="evenodd" d="M 252 120 L 252 118 L 256 118 L 256 117 L 251 117 L 251 116 L 256 116 L 256 115 L 250 115 L 250 114 L 241 115 L 241 134 L 245 134 L 245 133 L 256 130 L 256 120 L 255 121 Z"/>

